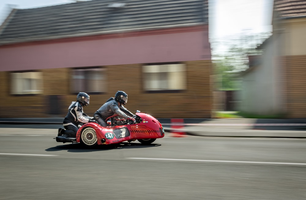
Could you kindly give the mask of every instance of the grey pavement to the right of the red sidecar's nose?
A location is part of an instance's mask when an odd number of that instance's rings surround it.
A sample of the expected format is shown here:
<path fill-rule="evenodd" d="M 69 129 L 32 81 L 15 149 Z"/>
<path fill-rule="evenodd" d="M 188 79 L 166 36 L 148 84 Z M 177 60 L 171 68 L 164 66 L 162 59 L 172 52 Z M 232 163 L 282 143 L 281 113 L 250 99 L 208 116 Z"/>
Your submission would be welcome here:
<path fill-rule="evenodd" d="M 207 119 L 181 129 L 165 128 L 195 136 L 306 138 L 306 119 Z"/>

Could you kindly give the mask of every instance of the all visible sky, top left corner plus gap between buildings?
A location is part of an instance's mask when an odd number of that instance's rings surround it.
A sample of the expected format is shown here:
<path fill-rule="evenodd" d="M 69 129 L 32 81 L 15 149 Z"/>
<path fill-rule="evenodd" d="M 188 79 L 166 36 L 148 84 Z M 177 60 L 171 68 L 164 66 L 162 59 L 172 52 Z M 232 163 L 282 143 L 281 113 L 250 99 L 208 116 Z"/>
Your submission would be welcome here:
<path fill-rule="evenodd" d="M 86 1 L 86 0 L 84 0 Z M 72 3 L 76 0 L 0 0 L 0 24 L 10 8 L 33 8 Z M 244 32 L 271 31 L 273 0 L 209 0 L 210 38 L 226 38 Z"/>

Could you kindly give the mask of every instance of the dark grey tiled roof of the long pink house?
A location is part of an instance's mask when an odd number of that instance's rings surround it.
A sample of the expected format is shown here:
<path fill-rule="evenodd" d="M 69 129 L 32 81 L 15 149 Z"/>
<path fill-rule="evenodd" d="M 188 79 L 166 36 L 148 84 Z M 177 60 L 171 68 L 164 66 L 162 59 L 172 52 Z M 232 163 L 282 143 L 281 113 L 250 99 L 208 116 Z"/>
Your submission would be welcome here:
<path fill-rule="evenodd" d="M 0 44 L 208 23 L 208 0 L 92 0 L 17 9 L 0 30 Z"/>

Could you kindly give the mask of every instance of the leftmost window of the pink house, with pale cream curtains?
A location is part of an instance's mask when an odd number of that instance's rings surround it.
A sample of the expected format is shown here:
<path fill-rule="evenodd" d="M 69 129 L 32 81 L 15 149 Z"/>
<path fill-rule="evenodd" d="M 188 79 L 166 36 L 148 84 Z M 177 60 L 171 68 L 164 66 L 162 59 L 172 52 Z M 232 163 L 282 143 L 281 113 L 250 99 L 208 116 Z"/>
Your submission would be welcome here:
<path fill-rule="evenodd" d="M 43 75 L 42 72 L 13 72 L 12 94 L 42 94 Z"/>

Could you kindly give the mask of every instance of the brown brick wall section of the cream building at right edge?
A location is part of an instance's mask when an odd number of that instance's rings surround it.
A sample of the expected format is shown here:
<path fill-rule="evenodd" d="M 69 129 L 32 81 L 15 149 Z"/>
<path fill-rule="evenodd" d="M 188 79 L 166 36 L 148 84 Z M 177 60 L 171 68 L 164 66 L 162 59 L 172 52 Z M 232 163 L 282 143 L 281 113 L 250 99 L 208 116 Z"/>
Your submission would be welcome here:
<path fill-rule="evenodd" d="M 282 59 L 285 108 L 289 118 L 306 118 L 306 55 Z"/>

